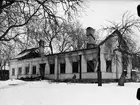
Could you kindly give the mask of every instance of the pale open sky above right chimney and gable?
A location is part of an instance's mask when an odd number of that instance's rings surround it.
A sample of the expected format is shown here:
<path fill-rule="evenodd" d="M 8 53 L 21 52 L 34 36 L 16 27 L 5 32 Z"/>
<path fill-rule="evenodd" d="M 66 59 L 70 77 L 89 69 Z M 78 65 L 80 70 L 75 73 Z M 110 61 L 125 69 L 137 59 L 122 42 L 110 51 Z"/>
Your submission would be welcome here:
<path fill-rule="evenodd" d="M 140 18 L 137 15 L 137 6 L 139 4 L 140 0 L 87 0 L 85 9 L 79 15 L 78 20 L 84 28 L 90 26 L 98 30 L 102 26 L 108 25 L 108 21 L 119 22 L 126 11 L 136 18 Z M 140 32 L 136 34 L 134 40 L 140 46 Z"/>

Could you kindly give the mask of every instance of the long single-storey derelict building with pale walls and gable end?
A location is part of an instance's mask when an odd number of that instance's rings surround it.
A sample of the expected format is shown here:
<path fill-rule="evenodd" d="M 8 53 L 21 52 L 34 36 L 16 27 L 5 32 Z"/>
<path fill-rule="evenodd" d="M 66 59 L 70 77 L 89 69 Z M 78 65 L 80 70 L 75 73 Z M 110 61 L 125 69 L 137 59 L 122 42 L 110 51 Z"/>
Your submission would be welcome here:
<path fill-rule="evenodd" d="M 124 67 L 122 55 L 129 58 L 127 78 L 130 79 L 131 54 L 118 49 L 119 31 L 114 31 L 98 46 L 93 44 L 87 49 L 44 55 L 43 42 L 39 48 L 22 51 L 10 61 L 10 78 L 37 77 L 47 79 L 97 79 L 98 52 L 100 53 L 100 68 L 103 79 L 119 79 Z M 100 50 L 99 50 L 100 48 Z M 123 52 L 123 53 L 122 53 Z"/>

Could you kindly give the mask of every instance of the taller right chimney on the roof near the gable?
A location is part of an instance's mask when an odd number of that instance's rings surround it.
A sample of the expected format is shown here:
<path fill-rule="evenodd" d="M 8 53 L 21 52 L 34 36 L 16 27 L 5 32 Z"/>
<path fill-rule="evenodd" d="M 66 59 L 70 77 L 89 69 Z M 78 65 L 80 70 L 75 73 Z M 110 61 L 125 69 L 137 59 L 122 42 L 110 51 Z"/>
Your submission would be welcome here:
<path fill-rule="evenodd" d="M 94 37 L 95 29 L 92 27 L 88 27 L 86 29 L 86 35 L 87 35 L 87 48 L 93 48 L 95 47 L 95 37 Z"/>

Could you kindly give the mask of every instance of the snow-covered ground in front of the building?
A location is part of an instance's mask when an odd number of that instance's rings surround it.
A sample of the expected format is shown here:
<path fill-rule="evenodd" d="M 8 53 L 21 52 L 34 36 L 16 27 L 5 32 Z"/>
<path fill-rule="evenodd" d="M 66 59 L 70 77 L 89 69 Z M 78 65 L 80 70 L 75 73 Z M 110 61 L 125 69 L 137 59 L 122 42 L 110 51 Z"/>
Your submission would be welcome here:
<path fill-rule="evenodd" d="M 0 105 L 139 105 L 140 83 L 66 84 L 0 81 Z"/>

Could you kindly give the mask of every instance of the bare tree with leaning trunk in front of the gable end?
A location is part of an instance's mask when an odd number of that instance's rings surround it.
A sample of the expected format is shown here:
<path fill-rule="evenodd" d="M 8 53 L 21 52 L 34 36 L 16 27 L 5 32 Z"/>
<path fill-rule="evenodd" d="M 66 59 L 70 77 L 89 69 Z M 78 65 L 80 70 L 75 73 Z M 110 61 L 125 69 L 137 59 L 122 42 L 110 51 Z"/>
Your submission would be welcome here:
<path fill-rule="evenodd" d="M 109 21 L 111 25 L 103 27 L 104 31 L 112 33 L 115 30 L 118 30 L 119 35 L 119 46 L 118 49 L 122 52 L 122 65 L 123 72 L 119 80 L 119 85 L 123 85 L 125 77 L 127 75 L 127 66 L 129 63 L 129 54 L 133 54 L 136 51 L 136 43 L 132 39 L 132 36 L 135 35 L 136 29 L 140 30 L 140 19 L 136 19 L 133 15 L 130 15 L 128 12 L 125 12 L 122 16 L 120 22 Z"/>

